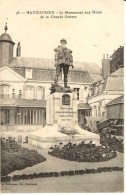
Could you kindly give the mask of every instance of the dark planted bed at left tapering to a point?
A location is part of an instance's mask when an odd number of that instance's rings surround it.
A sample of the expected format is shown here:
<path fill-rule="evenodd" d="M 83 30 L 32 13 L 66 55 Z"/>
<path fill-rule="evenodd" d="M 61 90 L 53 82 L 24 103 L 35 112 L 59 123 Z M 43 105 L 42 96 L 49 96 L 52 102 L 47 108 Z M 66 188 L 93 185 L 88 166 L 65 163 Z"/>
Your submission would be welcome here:
<path fill-rule="evenodd" d="M 45 161 L 46 158 L 34 150 L 28 150 L 17 144 L 14 138 L 1 139 L 1 175 L 21 170 Z"/>

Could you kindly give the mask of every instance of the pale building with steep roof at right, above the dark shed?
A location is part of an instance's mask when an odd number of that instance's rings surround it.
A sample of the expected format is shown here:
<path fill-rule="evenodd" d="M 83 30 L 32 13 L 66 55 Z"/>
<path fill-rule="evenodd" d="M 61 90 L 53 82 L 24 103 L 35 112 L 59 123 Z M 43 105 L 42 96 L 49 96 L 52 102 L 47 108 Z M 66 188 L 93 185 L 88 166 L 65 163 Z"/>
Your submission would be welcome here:
<path fill-rule="evenodd" d="M 107 117 L 106 104 L 124 94 L 124 70 L 119 68 L 112 74 L 90 85 L 88 104 L 93 117 Z"/>

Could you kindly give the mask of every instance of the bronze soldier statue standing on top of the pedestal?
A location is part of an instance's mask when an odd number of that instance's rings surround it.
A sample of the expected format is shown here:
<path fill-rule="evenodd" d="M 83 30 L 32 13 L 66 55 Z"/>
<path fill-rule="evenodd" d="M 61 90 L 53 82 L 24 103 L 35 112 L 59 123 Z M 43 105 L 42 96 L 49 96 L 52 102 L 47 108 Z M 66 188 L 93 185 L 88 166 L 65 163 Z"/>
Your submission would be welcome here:
<path fill-rule="evenodd" d="M 65 39 L 62 39 L 60 41 L 61 45 L 58 46 L 55 51 L 55 66 L 56 66 L 56 76 L 54 80 L 55 86 L 58 86 L 58 78 L 63 70 L 64 74 L 64 87 L 70 88 L 67 85 L 67 76 L 69 72 L 69 67 L 72 66 L 73 68 L 73 56 L 72 51 L 66 47 L 67 41 Z"/>

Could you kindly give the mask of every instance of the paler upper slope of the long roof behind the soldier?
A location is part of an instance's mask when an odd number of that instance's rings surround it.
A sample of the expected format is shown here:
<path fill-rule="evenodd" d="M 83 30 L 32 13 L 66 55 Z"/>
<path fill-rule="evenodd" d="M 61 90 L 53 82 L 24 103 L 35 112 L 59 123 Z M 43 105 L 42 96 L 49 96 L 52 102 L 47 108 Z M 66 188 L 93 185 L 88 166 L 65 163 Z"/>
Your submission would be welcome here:
<path fill-rule="evenodd" d="M 73 62 L 74 69 L 92 74 L 101 74 L 101 68 L 95 63 Z M 55 60 L 47 58 L 15 57 L 10 67 L 55 69 Z"/>

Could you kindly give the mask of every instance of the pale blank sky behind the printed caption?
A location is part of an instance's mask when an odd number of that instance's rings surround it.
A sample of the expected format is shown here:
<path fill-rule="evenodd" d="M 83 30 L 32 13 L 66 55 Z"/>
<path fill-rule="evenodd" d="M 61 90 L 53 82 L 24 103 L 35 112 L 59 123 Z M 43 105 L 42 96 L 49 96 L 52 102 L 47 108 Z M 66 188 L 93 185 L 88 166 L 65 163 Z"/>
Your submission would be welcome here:
<path fill-rule="evenodd" d="M 54 14 L 26 14 L 27 11 L 54 11 Z M 71 15 L 65 11 L 83 11 L 83 14 Z M 54 48 L 64 38 L 73 51 L 74 61 L 93 62 L 101 67 L 103 54 L 111 56 L 124 44 L 123 0 L 0 0 L 0 34 L 6 21 L 7 33 L 15 42 L 14 55 L 20 41 L 22 57 L 54 59 Z"/>

